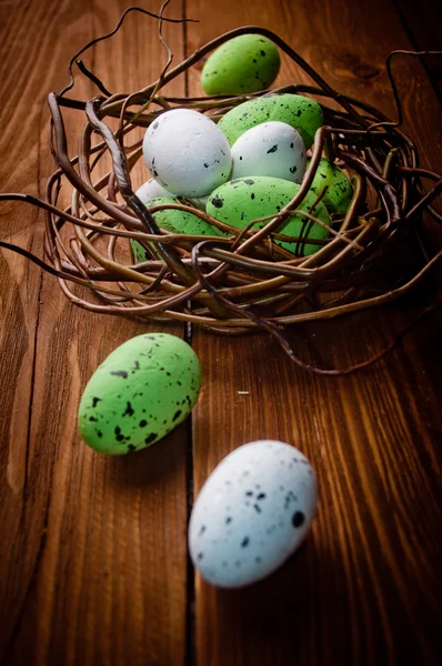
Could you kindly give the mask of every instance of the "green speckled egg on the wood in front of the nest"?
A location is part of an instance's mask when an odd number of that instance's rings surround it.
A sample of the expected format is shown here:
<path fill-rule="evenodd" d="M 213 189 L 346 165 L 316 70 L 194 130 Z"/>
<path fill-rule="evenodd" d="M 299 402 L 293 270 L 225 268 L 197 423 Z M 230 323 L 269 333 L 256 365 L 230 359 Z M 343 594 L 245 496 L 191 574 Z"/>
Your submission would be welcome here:
<path fill-rule="evenodd" d="M 140 451 L 184 421 L 200 386 L 200 362 L 187 342 L 167 333 L 138 335 L 91 376 L 79 407 L 80 434 L 100 453 Z"/>

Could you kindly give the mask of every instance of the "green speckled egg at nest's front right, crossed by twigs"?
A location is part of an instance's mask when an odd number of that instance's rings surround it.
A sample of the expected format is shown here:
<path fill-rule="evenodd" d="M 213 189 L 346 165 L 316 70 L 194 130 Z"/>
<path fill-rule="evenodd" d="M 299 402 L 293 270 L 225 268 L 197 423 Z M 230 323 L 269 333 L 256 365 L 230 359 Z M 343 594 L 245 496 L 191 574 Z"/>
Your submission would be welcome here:
<path fill-rule="evenodd" d="M 300 186 L 291 181 L 268 175 L 240 178 L 217 188 L 209 196 L 207 211 L 210 215 L 217 218 L 217 220 L 221 220 L 237 229 L 243 229 L 257 218 L 279 213 L 293 199 Z M 315 194 L 309 192 L 302 204 L 298 208 L 309 211 L 314 200 Z M 321 222 L 324 222 L 324 224 L 330 224 L 330 215 L 322 202 L 319 202 L 311 212 Z M 259 229 L 264 226 L 264 224 L 267 222 L 257 223 L 255 228 Z M 328 229 L 307 220 L 299 213 L 291 215 L 278 231 L 287 235 L 302 235 L 305 239 L 322 240 L 329 236 Z M 320 248 L 320 245 L 311 243 L 291 243 L 285 241 L 275 241 L 275 243 L 298 256 L 312 254 Z"/>

